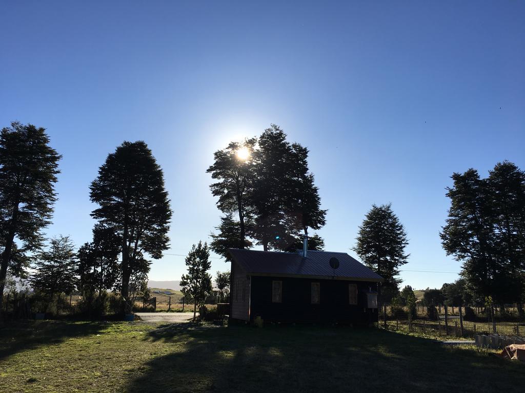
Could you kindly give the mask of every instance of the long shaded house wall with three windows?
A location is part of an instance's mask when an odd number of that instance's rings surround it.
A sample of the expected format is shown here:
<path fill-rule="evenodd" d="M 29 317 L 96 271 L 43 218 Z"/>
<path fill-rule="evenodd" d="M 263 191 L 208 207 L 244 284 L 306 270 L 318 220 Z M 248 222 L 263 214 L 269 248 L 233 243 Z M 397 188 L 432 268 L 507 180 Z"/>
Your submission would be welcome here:
<path fill-rule="evenodd" d="M 272 281 L 282 281 L 282 302 L 272 302 Z M 311 283 L 320 283 L 320 302 L 311 303 Z M 348 285 L 358 287 L 358 304 L 349 304 Z M 306 278 L 251 277 L 250 320 L 260 316 L 265 321 L 342 322 L 370 324 L 377 322 L 377 309 L 367 308 L 364 291 L 376 290 L 375 282 L 317 280 Z"/>

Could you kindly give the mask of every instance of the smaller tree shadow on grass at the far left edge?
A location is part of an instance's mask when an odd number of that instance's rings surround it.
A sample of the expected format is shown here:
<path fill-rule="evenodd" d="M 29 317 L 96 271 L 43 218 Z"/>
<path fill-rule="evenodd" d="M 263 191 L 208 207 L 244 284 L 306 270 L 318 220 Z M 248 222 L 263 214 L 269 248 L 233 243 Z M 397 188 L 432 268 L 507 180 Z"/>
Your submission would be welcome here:
<path fill-rule="evenodd" d="M 0 361 L 20 351 L 98 333 L 100 322 L 12 321 L 0 328 Z"/>

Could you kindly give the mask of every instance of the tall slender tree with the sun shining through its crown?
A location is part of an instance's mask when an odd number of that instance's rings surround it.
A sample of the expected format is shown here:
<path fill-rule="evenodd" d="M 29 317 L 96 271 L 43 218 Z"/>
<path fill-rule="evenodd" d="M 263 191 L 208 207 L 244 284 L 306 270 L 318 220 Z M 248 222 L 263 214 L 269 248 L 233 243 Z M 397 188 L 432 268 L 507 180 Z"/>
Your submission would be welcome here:
<path fill-rule="evenodd" d="M 219 180 L 209 186 L 212 194 L 219 197 L 217 208 L 226 217 L 234 212 L 239 216 L 237 242 L 233 242 L 235 248 L 245 248 L 247 244 L 246 223 L 250 216 L 248 193 L 254 169 L 250 157 L 253 156 L 256 143 L 256 138 L 246 139 L 243 143 L 231 142 L 226 149 L 215 152 L 215 162 L 206 171 L 212 173 L 212 179 Z M 233 240 L 228 237 L 228 242 Z"/>

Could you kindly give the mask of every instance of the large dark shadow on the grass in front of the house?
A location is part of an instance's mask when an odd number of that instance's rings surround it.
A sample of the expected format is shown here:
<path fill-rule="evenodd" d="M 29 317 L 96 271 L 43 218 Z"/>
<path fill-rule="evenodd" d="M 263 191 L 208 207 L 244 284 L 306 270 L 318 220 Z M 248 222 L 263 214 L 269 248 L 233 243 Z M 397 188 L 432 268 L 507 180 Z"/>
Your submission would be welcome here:
<path fill-rule="evenodd" d="M 128 391 L 495 391 L 522 364 L 379 330 L 169 324 L 145 340 L 170 353 L 134 370 Z"/>

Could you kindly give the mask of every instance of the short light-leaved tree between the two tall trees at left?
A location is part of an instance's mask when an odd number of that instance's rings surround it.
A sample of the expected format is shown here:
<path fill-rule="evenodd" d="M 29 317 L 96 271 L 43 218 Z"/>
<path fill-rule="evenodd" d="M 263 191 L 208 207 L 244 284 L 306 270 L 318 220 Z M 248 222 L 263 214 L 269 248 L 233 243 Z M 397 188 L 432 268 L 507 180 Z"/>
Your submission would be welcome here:
<path fill-rule="evenodd" d="M 35 290 L 47 294 L 48 303 L 55 294 L 71 293 L 77 282 L 77 259 L 69 236 L 51 238 L 48 248 L 37 254 L 34 268 L 31 283 Z"/>

